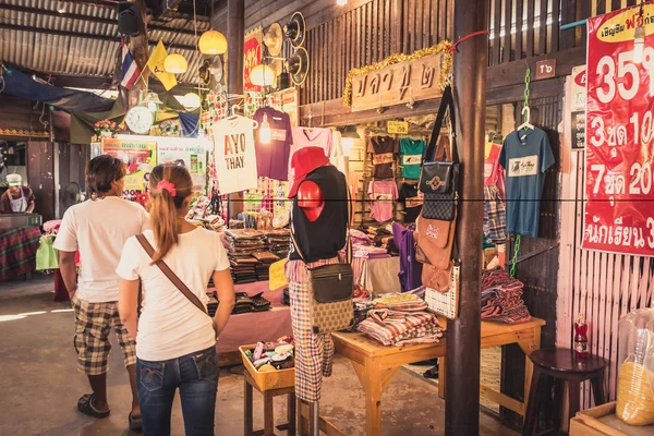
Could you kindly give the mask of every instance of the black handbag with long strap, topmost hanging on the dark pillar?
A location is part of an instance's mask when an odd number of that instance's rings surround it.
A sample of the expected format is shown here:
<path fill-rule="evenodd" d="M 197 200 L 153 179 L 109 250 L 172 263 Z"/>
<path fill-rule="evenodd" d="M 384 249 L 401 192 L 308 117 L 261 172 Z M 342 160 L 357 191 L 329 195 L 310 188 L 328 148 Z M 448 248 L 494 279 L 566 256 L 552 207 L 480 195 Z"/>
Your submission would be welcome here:
<path fill-rule="evenodd" d="M 455 210 L 459 202 L 458 181 L 459 181 L 459 155 L 457 153 L 456 136 L 452 136 L 452 143 L 448 146 L 439 147 L 441 153 L 437 153 L 436 143 L 440 135 L 440 129 L 445 114 L 449 109 L 452 129 L 455 128 L 455 105 L 452 89 L 446 87 L 440 99 L 440 107 L 434 123 L 434 130 L 429 137 L 429 145 L 423 158 L 422 172 L 420 178 L 420 191 L 424 194 L 422 216 L 427 219 L 439 219 L 452 221 Z M 448 158 L 448 148 L 451 147 L 451 161 Z M 440 160 L 436 160 L 436 157 Z"/>

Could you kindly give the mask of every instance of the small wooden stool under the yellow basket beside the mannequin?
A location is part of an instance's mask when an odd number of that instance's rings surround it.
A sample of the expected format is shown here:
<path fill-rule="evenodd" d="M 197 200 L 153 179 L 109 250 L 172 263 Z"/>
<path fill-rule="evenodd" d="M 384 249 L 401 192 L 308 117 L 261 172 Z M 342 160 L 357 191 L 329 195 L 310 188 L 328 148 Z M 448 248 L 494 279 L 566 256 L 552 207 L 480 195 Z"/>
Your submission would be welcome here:
<path fill-rule="evenodd" d="M 272 399 L 282 395 L 289 396 L 289 410 L 287 424 L 278 425 L 277 429 L 288 431 L 290 436 L 295 435 L 295 387 L 270 389 L 262 391 L 247 371 L 243 374 L 245 380 L 245 436 L 275 436 L 275 413 L 272 412 Z M 253 429 L 253 405 L 252 388 L 264 396 L 264 429 Z"/>

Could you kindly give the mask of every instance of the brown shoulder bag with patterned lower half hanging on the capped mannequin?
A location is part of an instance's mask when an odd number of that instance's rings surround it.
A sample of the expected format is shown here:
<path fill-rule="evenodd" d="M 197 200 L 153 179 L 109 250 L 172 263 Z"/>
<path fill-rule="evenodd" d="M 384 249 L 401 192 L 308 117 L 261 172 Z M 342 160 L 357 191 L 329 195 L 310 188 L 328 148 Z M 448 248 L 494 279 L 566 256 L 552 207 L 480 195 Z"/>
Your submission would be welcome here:
<path fill-rule="evenodd" d="M 350 208 L 349 194 L 348 208 Z M 354 304 L 352 303 L 354 272 L 351 265 L 350 214 L 348 214 L 347 263 L 323 265 L 314 268 L 307 267 L 310 318 L 314 334 L 347 330 L 354 325 Z M 292 226 L 291 240 L 302 261 L 307 264 L 300 245 L 295 241 Z"/>

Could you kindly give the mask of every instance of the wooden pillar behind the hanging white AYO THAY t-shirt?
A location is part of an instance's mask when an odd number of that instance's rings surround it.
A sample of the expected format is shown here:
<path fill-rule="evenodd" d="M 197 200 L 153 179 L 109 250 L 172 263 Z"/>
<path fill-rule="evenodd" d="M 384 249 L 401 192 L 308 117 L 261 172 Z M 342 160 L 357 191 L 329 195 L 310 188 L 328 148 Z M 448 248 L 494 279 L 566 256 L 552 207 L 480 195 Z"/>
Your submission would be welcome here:
<path fill-rule="evenodd" d="M 227 2 L 227 93 L 243 94 L 243 46 L 245 41 L 245 0 Z M 239 100 L 237 100 L 239 101 Z M 234 101 L 229 101 L 229 107 Z M 241 105 L 243 109 L 243 105 Z M 243 211 L 243 194 L 229 196 L 229 217 L 235 218 Z"/>

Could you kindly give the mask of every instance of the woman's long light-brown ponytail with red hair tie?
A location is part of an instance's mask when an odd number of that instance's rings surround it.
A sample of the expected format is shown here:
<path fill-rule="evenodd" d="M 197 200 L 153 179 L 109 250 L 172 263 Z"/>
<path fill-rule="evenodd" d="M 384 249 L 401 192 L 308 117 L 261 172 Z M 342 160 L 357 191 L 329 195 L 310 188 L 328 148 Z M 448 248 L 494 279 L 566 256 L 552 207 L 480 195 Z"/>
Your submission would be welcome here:
<path fill-rule="evenodd" d="M 161 261 L 177 245 L 181 230 L 180 218 L 184 201 L 193 192 L 193 180 L 184 167 L 158 166 L 150 173 L 149 191 L 153 197 L 150 227 L 157 251 L 153 265 Z"/>

